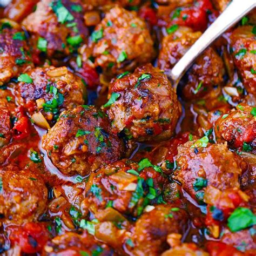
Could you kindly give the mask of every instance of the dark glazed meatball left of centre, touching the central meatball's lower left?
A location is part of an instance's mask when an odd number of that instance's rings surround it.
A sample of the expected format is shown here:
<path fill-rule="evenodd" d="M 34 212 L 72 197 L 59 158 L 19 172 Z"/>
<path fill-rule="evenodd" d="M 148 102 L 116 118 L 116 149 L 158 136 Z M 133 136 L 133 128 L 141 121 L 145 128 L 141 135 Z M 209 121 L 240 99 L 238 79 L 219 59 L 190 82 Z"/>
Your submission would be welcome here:
<path fill-rule="evenodd" d="M 87 105 L 63 111 L 43 137 L 43 147 L 64 174 L 89 174 L 123 153 L 122 141 L 111 133 L 107 116 Z"/>

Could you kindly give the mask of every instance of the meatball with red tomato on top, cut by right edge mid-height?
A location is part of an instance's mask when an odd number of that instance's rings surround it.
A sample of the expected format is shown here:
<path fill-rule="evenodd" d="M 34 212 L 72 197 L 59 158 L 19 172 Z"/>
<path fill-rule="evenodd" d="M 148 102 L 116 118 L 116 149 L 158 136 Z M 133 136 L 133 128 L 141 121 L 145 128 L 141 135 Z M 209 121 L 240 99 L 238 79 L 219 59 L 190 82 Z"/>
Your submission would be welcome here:
<path fill-rule="evenodd" d="M 237 110 L 219 117 L 215 123 L 215 136 L 217 141 L 226 141 L 235 149 L 256 152 L 256 119 L 253 107 L 238 105 Z"/>

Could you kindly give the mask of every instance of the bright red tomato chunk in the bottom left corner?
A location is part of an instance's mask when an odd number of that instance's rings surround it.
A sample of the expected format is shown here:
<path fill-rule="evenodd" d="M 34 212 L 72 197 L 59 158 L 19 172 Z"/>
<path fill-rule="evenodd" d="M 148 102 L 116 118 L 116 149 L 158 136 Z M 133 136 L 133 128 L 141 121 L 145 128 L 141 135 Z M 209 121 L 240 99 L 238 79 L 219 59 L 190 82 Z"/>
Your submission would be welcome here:
<path fill-rule="evenodd" d="M 41 252 L 49 234 L 43 224 L 26 223 L 23 227 L 11 228 L 10 241 L 21 247 L 24 253 Z"/>

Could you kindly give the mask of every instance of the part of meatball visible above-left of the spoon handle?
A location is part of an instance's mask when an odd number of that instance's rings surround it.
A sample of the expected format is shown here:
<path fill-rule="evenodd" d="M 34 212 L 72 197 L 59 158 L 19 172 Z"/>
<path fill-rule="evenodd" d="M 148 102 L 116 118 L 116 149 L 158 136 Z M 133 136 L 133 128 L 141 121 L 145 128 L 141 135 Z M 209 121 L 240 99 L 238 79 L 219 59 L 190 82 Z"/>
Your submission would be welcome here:
<path fill-rule="evenodd" d="M 159 68 L 165 71 L 172 69 L 201 34 L 200 31 L 194 32 L 191 28 L 180 26 L 177 31 L 165 36 L 158 56 Z"/>

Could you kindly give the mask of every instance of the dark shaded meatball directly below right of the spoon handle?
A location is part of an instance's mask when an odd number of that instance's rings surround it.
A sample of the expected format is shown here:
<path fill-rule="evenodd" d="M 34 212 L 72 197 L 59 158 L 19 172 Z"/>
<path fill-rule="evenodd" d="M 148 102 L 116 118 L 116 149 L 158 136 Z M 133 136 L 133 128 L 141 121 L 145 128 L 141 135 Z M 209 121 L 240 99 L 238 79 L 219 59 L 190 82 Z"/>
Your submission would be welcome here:
<path fill-rule="evenodd" d="M 199 56 L 188 72 L 188 81 L 183 89 L 186 99 L 205 96 L 216 86 L 224 84 L 224 63 L 213 48 L 208 48 Z"/>

